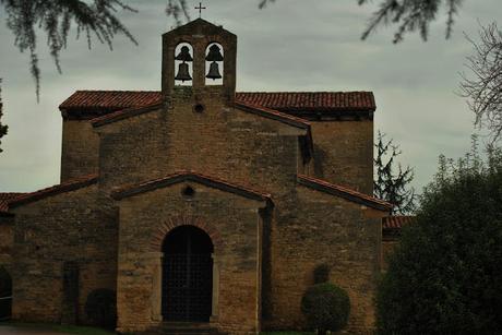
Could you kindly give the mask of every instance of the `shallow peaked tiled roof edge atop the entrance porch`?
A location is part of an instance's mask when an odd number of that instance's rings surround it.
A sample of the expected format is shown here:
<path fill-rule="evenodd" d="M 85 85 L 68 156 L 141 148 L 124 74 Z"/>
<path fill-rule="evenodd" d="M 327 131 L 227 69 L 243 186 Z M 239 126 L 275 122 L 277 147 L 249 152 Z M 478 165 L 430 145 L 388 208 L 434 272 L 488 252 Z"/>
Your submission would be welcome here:
<path fill-rule="evenodd" d="M 202 183 L 206 187 L 223 190 L 226 192 L 235 193 L 242 195 L 244 198 L 258 201 L 271 201 L 271 194 L 265 192 L 260 192 L 248 187 L 239 186 L 236 183 L 230 183 L 224 181 L 219 178 L 210 177 L 206 175 L 198 174 L 191 170 L 181 170 L 172 175 L 168 175 L 163 178 L 148 180 L 139 184 L 128 186 L 120 190 L 115 191 L 111 196 L 116 200 L 121 200 L 132 195 L 141 194 L 144 192 L 150 192 L 160 188 L 165 188 L 171 184 L 176 184 L 183 181 L 195 181 Z"/>

